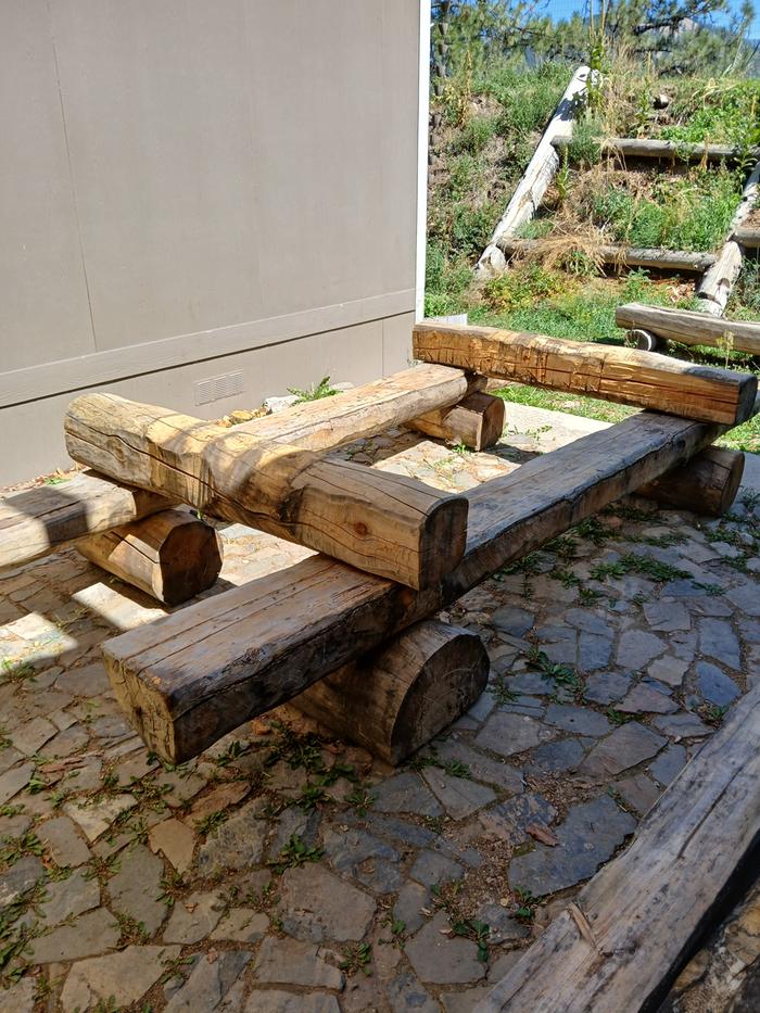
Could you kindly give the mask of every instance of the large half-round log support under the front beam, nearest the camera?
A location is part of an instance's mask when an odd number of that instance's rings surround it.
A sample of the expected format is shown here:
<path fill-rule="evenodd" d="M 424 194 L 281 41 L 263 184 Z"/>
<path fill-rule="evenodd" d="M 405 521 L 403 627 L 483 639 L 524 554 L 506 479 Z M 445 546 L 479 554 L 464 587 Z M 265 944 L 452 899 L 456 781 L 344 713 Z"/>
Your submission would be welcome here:
<path fill-rule="evenodd" d="M 489 667 L 477 634 L 427 620 L 292 704 L 395 767 L 469 710 L 485 688 Z"/>

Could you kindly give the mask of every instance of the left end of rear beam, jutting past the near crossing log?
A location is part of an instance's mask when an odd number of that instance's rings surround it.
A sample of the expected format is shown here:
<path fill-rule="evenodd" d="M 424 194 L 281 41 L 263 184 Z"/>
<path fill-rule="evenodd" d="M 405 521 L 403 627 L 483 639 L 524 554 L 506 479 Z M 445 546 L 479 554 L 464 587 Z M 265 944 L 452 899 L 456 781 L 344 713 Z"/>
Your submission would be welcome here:
<path fill-rule="evenodd" d="M 0 499 L 0 570 L 172 506 L 165 496 L 83 471 Z"/>

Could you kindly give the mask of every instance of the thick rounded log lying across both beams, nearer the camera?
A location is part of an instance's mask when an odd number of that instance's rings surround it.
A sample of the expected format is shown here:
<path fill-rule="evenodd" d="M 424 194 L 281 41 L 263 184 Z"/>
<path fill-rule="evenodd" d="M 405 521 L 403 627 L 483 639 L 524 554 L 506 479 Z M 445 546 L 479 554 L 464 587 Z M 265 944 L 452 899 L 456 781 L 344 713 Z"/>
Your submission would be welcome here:
<path fill-rule="evenodd" d="M 413 479 L 113 394 L 73 401 L 64 430 L 75 460 L 119 481 L 413 587 L 464 552 L 467 502 Z"/>

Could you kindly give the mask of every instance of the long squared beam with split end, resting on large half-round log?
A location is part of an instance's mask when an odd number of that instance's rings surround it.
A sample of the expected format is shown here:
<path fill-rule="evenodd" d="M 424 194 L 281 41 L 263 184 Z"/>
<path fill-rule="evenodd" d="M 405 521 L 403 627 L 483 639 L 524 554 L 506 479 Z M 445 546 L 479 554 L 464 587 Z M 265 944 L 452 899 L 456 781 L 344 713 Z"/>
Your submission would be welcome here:
<path fill-rule="evenodd" d="M 471 490 L 465 558 L 425 592 L 315 556 L 122 634 L 103 648 L 118 700 L 149 748 L 195 756 L 722 431 L 642 413 Z"/>

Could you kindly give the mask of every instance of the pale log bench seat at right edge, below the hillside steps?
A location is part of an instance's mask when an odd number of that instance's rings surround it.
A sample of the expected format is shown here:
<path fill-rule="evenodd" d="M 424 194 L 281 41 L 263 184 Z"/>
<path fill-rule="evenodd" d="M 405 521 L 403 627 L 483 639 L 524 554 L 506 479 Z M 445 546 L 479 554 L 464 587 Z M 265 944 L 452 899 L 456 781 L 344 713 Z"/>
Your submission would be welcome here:
<path fill-rule="evenodd" d="M 701 344 L 737 352 L 760 353 L 760 322 L 726 320 L 691 309 L 670 309 L 625 303 L 615 311 L 615 322 L 626 329 L 643 328 L 680 344 Z"/>

